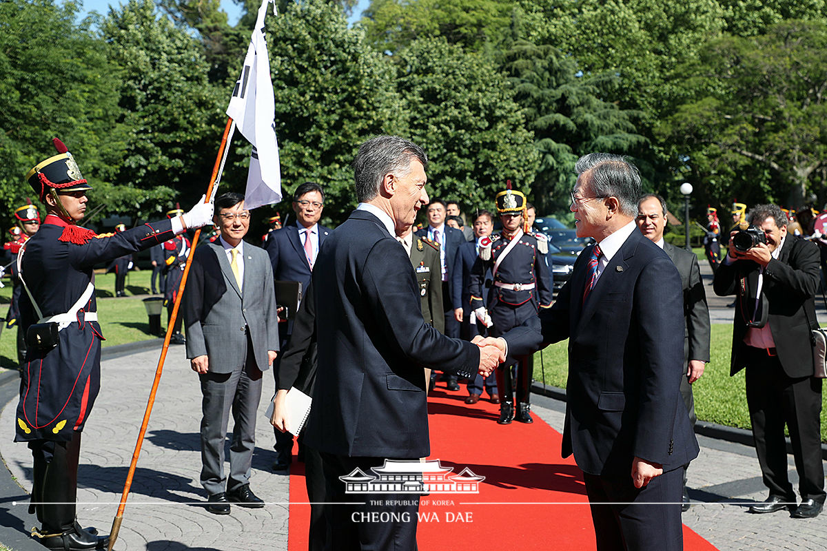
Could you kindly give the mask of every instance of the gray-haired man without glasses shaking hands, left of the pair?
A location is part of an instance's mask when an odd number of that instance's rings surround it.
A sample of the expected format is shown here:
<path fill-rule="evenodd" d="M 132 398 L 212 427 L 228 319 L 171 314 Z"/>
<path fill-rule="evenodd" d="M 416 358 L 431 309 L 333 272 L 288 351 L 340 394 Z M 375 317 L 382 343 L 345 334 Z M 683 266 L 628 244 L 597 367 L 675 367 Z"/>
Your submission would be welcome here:
<path fill-rule="evenodd" d="M 427 164 L 408 140 L 362 144 L 353 164 L 359 205 L 313 269 L 316 311 L 325 314 L 316 318 L 305 443 L 322 455 L 325 501 L 337 503 L 328 513 L 336 543 L 327 549 L 417 549 L 418 494 L 347 494 L 339 477 L 430 454 L 423 368 L 471 377 L 500 362 L 495 346 L 451 339 L 423 321 L 414 268 L 395 236 L 428 202 Z"/>

